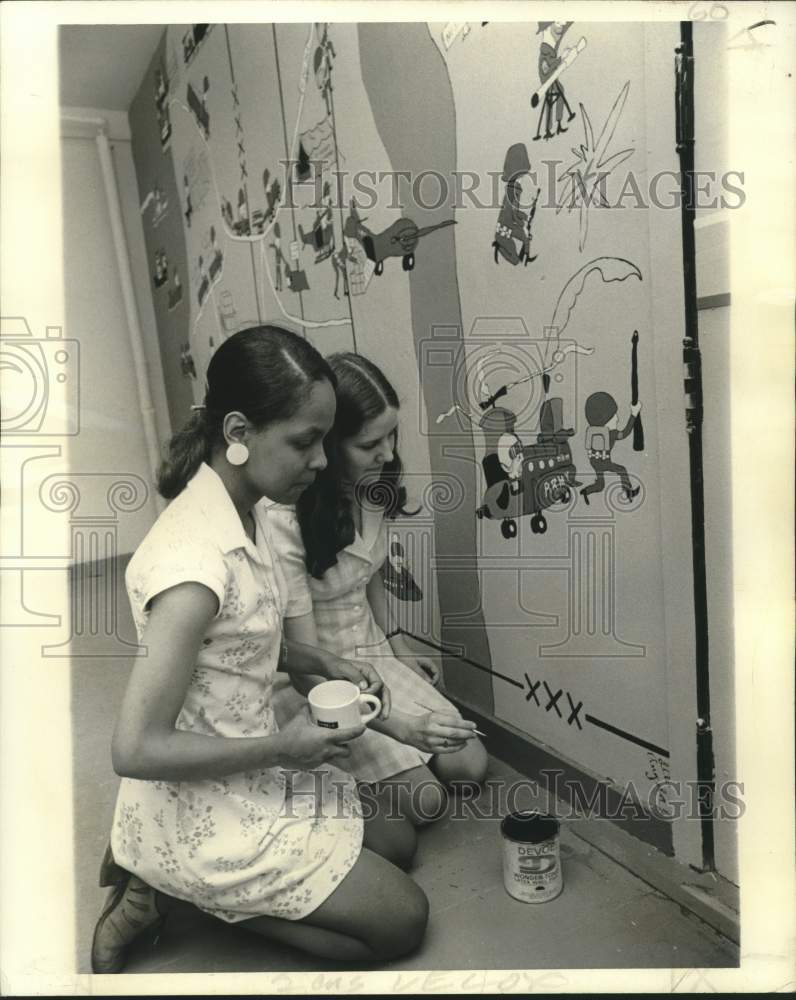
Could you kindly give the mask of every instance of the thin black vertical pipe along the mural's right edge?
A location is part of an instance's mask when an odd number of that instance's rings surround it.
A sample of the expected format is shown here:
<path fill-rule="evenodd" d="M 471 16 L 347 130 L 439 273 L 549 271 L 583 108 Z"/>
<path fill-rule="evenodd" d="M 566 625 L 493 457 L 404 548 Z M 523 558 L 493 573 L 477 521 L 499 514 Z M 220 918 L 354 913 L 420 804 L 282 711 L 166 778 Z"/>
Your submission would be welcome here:
<path fill-rule="evenodd" d="M 680 22 L 680 45 L 675 50 L 677 153 L 680 157 L 681 221 L 683 234 L 683 290 L 685 297 L 686 431 L 691 474 L 691 537 L 693 541 L 694 619 L 696 630 L 696 749 L 698 812 L 702 830 L 702 867 L 715 868 L 713 840 L 715 762 L 710 725 L 710 660 L 708 597 L 705 567 L 705 488 L 702 465 L 702 358 L 697 318 L 696 245 L 694 218 L 694 42 L 693 25 Z"/>

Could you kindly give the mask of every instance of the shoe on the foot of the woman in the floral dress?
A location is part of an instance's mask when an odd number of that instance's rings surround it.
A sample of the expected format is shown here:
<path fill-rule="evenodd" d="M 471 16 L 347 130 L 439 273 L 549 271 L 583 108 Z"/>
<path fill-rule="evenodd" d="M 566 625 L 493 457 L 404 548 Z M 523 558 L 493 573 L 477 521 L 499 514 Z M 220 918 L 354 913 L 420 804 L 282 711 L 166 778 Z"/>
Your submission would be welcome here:
<path fill-rule="evenodd" d="M 120 868 L 110 847 L 100 866 L 100 885 L 112 885 L 113 891 L 94 928 L 91 971 L 113 974 L 124 968 L 128 946 L 144 931 L 157 935 L 165 915 L 158 909 L 155 890 Z"/>

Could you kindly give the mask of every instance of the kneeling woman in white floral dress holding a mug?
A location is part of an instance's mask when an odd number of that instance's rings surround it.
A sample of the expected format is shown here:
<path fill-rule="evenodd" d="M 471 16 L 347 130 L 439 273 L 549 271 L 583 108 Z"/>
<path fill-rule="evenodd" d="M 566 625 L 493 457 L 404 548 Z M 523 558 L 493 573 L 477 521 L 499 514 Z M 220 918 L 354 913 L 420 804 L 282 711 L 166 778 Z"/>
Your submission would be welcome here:
<path fill-rule="evenodd" d="M 285 669 L 348 679 L 390 710 L 369 664 L 282 636 L 287 585 L 262 500 L 295 502 L 325 467 L 334 381 L 301 337 L 242 331 L 172 439 L 158 482 L 172 502 L 127 569 L 142 652 L 113 737 L 123 780 L 95 972 L 120 971 L 128 944 L 180 901 L 323 957 L 391 958 L 422 939 L 427 901 L 398 867 L 414 831 L 363 823 L 343 770 L 364 727 L 274 717 Z"/>

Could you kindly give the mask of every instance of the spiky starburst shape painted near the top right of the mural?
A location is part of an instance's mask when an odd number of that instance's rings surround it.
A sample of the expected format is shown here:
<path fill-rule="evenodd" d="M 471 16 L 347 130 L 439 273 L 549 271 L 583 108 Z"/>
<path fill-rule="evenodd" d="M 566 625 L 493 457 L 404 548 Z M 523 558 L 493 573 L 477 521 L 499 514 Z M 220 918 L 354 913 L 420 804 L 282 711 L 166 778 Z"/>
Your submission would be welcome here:
<path fill-rule="evenodd" d="M 581 251 L 586 246 L 589 235 L 589 209 L 592 205 L 601 208 L 610 207 L 605 192 L 605 181 L 620 163 L 624 163 L 635 152 L 633 148 L 628 148 L 609 155 L 611 140 L 622 117 L 629 91 L 628 80 L 619 91 L 596 140 L 589 115 L 583 105 L 580 105 L 585 141 L 579 147 L 573 147 L 575 159 L 561 175 L 556 214 L 563 208 L 567 209 L 567 213 L 578 209 L 580 216 L 578 249 Z"/>

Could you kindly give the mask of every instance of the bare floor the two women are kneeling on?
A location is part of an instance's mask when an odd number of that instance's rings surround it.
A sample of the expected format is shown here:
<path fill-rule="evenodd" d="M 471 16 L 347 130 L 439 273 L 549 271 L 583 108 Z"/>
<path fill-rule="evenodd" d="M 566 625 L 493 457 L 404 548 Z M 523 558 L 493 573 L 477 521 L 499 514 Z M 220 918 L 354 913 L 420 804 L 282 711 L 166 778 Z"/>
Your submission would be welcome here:
<path fill-rule="evenodd" d="M 123 633 L 127 635 L 127 632 Z M 97 868 L 107 843 L 118 779 L 110 736 L 130 661 L 75 660 L 78 970 L 89 971 L 94 922 L 107 890 Z M 500 761 L 490 779 L 520 780 Z M 482 797 L 486 802 L 486 796 Z M 476 800 L 477 802 L 478 800 Z M 526 802 L 523 800 L 522 805 Z M 482 811 L 486 812 L 486 808 Z M 498 816 L 448 815 L 420 834 L 412 876 L 431 902 L 421 949 L 392 970 L 708 968 L 738 963 L 736 946 L 605 854 L 562 831 L 565 888 L 529 905 L 504 890 Z M 175 915 L 156 945 L 144 941 L 128 972 L 314 972 L 342 966 L 230 927 L 199 911 Z M 359 966 L 359 968 L 375 968 Z"/>

